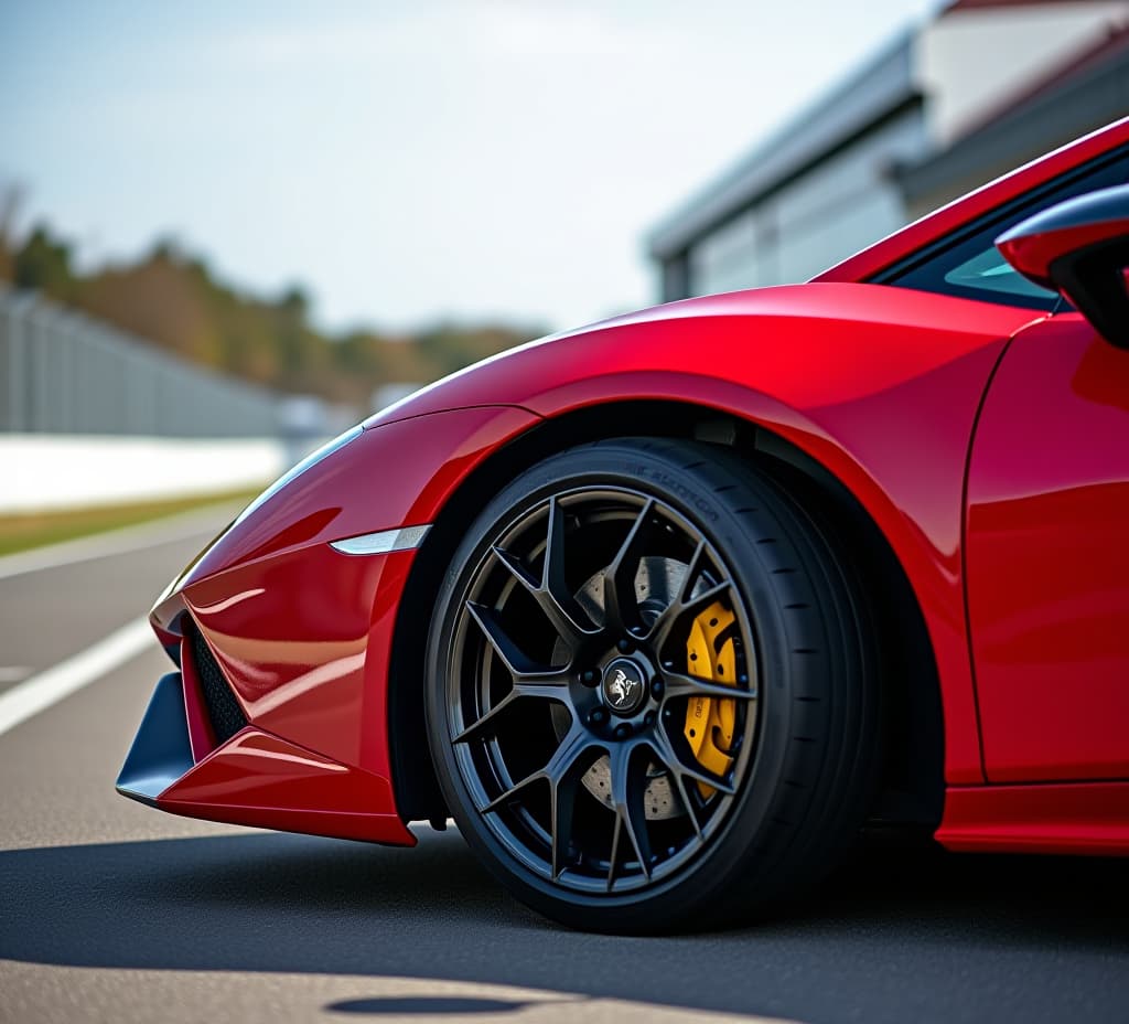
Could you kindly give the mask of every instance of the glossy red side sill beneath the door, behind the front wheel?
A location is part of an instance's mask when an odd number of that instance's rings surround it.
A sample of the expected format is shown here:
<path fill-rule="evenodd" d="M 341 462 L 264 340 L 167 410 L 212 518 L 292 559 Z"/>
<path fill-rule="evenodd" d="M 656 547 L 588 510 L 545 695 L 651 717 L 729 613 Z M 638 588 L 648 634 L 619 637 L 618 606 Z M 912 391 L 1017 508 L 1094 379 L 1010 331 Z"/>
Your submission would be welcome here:
<path fill-rule="evenodd" d="M 980 853 L 1124 853 L 1129 782 L 951 787 L 937 839 Z"/>

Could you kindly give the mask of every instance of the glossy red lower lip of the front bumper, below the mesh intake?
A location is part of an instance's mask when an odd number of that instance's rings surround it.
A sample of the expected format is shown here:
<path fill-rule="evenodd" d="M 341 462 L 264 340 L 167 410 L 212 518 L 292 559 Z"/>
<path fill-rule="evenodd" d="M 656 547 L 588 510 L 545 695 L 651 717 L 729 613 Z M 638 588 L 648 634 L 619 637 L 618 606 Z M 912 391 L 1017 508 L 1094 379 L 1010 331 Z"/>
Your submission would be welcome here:
<path fill-rule="evenodd" d="M 387 779 L 340 764 L 259 729 L 237 732 L 157 798 L 163 810 L 413 845 Z"/>

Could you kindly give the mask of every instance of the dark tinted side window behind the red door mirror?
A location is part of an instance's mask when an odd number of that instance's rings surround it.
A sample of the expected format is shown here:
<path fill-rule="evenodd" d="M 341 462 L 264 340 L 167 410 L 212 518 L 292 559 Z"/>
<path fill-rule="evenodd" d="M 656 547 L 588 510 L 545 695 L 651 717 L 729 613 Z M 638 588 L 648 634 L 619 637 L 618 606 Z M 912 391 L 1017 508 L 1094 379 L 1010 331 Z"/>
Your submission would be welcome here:
<path fill-rule="evenodd" d="M 876 284 L 920 292 L 939 292 L 960 298 L 998 302 L 1033 310 L 1053 310 L 1059 296 L 1032 285 L 1007 264 L 992 244 L 1013 224 L 1039 210 L 1097 189 L 1129 181 L 1129 151 L 1124 147 L 1078 167 L 986 214 L 961 231 L 913 253 L 872 278 Z"/>

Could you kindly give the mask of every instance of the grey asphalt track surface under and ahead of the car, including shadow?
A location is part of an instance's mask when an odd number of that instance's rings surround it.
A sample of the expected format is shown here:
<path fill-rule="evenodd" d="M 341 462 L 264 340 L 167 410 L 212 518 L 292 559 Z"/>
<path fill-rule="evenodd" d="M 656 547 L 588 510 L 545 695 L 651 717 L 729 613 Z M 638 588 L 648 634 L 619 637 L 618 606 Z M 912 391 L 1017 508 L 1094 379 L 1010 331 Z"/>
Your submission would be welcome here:
<path fill-rule="evenodd" d="M 211 532 L 0 579 L 0 669 L 134 618 Z M 873 843 L 739 931 L 583 935 L 454 831 L 384 849 L 116 796 L 165 668 L 155 644 L 0 736 L 0 1021 L 1129 1022 L 1124 860 Z"/>

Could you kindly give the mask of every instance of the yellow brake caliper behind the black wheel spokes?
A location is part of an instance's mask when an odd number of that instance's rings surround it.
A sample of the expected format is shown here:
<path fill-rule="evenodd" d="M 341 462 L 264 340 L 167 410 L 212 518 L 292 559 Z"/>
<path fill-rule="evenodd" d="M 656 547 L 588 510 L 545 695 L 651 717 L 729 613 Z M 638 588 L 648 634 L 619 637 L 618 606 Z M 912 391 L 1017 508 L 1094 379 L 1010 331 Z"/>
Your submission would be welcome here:
<path fill-rule="evenodd" d="M 735 686 L 737 683 L 737 653 L 733 637 L 720 646 L 718 640 L 733 624 L 734 615 L 720 601 L 715 601 L 694 618 L 686 641 L 686 663 L 690 675 Z M 686 705 L 685 736 L 698 763 L 715 775 L 724 775 L 733 758 L 733 728 L 737 714 L 737 702 L 717 697 L 694 696 Z M 709 799 L 715 790 L 704 782 L 698 790 Z"/>

